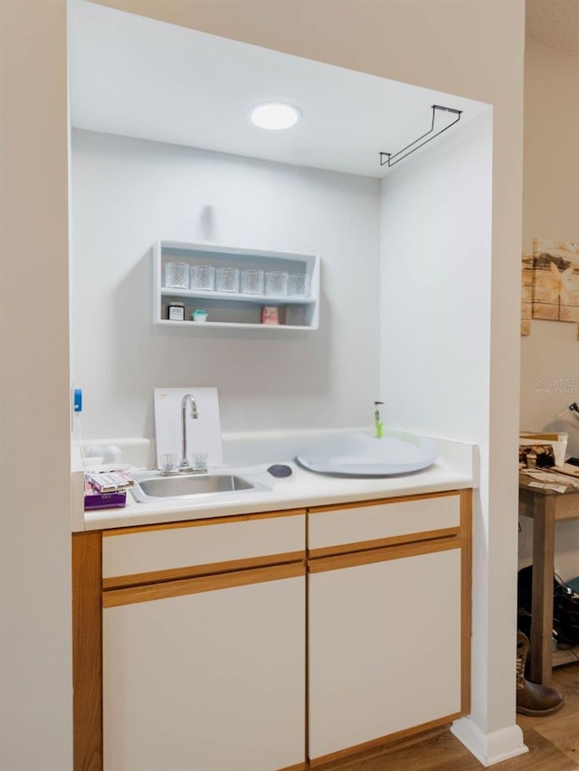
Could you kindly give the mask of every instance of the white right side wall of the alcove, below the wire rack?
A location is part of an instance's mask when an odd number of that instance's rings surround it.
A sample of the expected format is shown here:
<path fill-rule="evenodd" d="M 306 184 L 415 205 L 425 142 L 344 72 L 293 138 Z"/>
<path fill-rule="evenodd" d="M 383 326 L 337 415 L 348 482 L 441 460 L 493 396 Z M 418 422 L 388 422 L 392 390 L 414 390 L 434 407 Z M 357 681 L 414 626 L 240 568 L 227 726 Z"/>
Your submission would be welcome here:
<path fill-rule="evenodd" d="M 384 415 L 488 446 L 491 109 L 435 142 L 383 183 Z"/>

